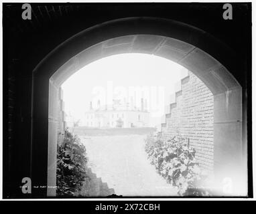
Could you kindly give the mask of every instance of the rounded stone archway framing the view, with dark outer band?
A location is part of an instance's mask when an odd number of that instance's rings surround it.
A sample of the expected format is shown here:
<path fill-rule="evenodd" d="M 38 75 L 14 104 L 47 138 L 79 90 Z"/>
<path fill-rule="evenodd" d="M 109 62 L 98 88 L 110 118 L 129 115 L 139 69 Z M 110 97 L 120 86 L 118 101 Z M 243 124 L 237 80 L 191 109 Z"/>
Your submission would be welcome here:
<path fill-rule="evenodd" d="M 225 177 L 235 181 L 237 175 L 245 175 L 247 142 L 243 142 L 242 133 L 242 87 L 233 77 L 239 66 L 229 60 L 232 51 L 190 25 L 168 19 L 133 17 L 85 29 L 56 47 L 35 68 L 31 142 L 34 184 L 56 184 L 56 106 L 60 85 L 90 62 L 131 52 L 155 54 L 177 62 L 208 86 L 214 95 L 216 181 L 221 182 Z M 36 161 L 38 158 L 40 161 Z M 55 195 L 54 189 L 34 191 L 39 196 Z"/>

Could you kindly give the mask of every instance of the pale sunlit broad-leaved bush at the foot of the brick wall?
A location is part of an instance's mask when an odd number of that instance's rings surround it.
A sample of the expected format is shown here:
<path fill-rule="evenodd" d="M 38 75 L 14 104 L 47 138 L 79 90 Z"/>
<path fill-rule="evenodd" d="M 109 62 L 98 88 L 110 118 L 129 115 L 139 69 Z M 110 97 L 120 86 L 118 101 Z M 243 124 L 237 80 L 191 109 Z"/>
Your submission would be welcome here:
<path fill-rule="evenodd" d="M 196 150 L 190 148 L 181 136 L 170 140 L 146 139 L 145 150 L 152 165 L 168 183 L 178 188 L 180 196 L 208 196 L 202 188 L 207 175 L 195 160 Z"/>

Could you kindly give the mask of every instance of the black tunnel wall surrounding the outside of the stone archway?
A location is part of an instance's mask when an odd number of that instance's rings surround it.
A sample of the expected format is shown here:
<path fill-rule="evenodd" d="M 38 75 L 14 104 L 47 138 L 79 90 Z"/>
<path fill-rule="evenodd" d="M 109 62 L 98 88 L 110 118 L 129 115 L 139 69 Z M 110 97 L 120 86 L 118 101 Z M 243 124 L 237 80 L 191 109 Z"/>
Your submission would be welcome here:
<path fill-rule="evenodd" d="M 250 4 L 233 3 L 233 20 L 222 18 L 222 3 L 35 3 L 31 7 L 29 21 L 21 19 L 21 4 L 3 4 L 3 128 L 8 133 L 3 137 L 4 197 L 27 197 L 17 187 L 30 175 L 32 71 L 57 45 L 88 27 L 124 17 L 162 17 L 198 27 L 231 50 L 233 56 L 227 60 L 233 63 L 219 60 L 222 52 L 214 58 L 236 67 L 233 75 L 251 106 L 251 91 L 245 90 L 251 86 Z M 210 48 L 208 43 L 202 45 Z"/>

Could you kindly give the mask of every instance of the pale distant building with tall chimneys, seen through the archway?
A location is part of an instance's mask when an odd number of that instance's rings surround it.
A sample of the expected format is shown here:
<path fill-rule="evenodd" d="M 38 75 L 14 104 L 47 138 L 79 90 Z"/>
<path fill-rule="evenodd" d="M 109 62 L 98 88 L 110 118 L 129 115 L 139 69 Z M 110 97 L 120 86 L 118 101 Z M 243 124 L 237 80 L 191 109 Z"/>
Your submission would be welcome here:
<path fill-rule="evenodd" d="M 149 112 L 144 109 L 144 100 L 141 99 L 141 108 L 129 108 L 129 104 L 121 106 L 115 100 L 112 108 L 100 107 L 85 112 L 83 125 L 94 128 L 133 128 L 133 127 L 148 127 Z"/>

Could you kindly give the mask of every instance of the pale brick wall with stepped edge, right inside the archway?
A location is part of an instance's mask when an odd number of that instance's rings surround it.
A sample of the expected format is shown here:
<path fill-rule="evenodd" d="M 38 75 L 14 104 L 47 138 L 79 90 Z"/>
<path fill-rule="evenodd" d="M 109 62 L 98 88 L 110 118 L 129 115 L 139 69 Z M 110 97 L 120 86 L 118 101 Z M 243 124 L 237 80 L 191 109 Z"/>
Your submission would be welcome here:
<path fill-rule="evenodd" d="M 196 159 L 204 169 L 213 169 L 213 95 L 192 72 L 181 80 L 181 90 L 176 92 L 176 102 L 170 104 L 165 137 L 181 134 L 189 138 L 196 148 Z"/>

